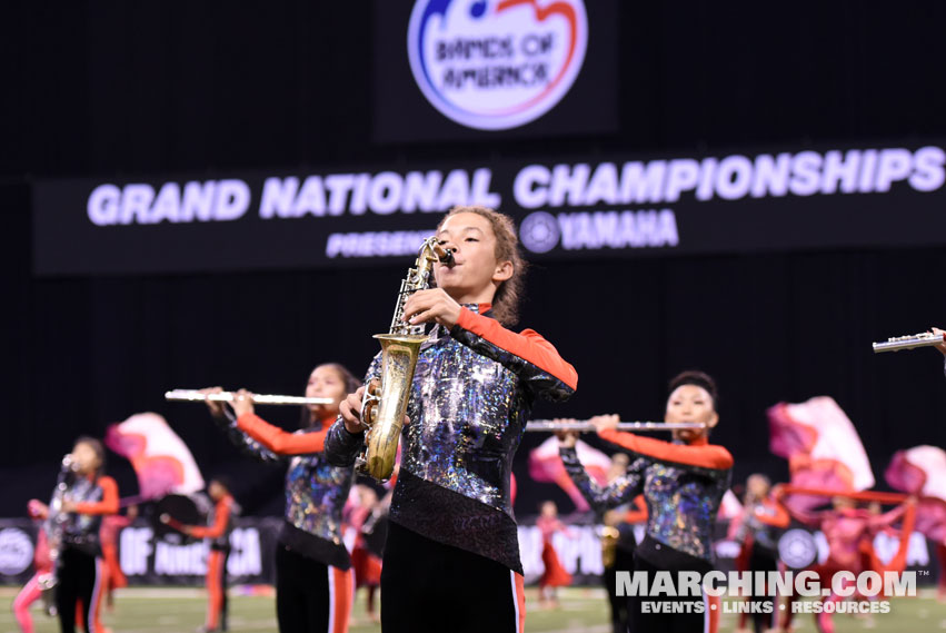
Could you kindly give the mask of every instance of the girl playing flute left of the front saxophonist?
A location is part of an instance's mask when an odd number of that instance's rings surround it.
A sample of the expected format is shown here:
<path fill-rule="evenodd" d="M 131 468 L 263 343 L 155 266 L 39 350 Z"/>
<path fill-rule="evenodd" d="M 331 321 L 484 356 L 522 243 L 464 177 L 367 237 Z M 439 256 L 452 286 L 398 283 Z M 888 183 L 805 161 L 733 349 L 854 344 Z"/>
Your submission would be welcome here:
<path fill-rule="evenodd" d="M 207 402 L 233 442 L 262 461 L 291 456 L 286 473 L 286 523 L 276 547 L 276 615 L 281 633 L 339 633 L 351 612 L 351 561 L 341 537 L 341 511 L 351 487 L 351 466 L 332 466 L 322 453 L 338 404 L 360 383 L 337 363 L 309 375 L 307 397 L 328 405 L 302 409 L 302 428 L 287 433 L 253 413 L 247 392 L 233 399 L 233 413 Z M 207 389 L 208 393 L 221 389 Z M 229 422 L 227 422 L 229 421 Z"/>

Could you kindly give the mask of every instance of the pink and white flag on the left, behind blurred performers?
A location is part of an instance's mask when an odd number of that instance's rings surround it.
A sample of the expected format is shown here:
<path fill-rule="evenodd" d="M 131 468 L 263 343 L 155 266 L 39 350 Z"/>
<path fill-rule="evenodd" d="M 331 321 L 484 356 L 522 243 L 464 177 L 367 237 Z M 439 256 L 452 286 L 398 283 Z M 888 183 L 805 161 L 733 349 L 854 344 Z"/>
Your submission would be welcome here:
<path fill-rule="evenodd" d="M 106 433 L 106 445 L 128 458 L 143 500 L 188 495 L 203 488 L 203 477 L 187 445 L 156 413 L 138 413 Z"/>

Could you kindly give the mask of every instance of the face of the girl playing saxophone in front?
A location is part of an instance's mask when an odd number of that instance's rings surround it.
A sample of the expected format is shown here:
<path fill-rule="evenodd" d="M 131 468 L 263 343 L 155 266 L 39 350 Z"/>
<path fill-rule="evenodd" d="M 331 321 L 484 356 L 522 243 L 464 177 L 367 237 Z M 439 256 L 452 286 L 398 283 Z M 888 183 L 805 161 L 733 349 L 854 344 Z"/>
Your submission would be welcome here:
<path fill-rule="evenodd" d="M 460 304 L 492 303 L 500 281 L 512 276 L 511 261 L 496 259 L 496 235 L 489 220 L 460 212 L 447 218 L 437 233 L 440 246 L 454 251 L 454 266 L 437 264 L 437 286 Z"/>

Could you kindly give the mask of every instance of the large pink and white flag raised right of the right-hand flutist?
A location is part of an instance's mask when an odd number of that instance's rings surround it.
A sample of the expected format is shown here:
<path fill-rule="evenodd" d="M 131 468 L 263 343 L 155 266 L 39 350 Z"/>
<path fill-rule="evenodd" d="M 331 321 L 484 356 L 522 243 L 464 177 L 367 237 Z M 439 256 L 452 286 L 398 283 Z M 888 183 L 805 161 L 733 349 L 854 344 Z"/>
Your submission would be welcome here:
<path fill-rule="evenodd" d="M 860 437 L 833 398 L 779 403 L 768 409 L 768 427 L 769 448 L 788 459 L 791 485 L 839 493 L 874 486 L 874 473 Z M 824 496 L 796 494 L 786 498 L 786 504 L 798 511 L 824 503 Z"/>

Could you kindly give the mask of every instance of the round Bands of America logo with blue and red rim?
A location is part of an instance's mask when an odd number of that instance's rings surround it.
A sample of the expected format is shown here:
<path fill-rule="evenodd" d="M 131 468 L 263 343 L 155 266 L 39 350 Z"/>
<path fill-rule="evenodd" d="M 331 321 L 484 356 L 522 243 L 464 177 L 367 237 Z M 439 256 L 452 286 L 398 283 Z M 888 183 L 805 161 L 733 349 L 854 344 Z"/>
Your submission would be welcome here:
<path fill-rule="evenodd" d="M 417 0 L 407 50 L 420 91 L 469 128 L 536 120 L 568 93 L 585 61 L 581 0 Z"/>

